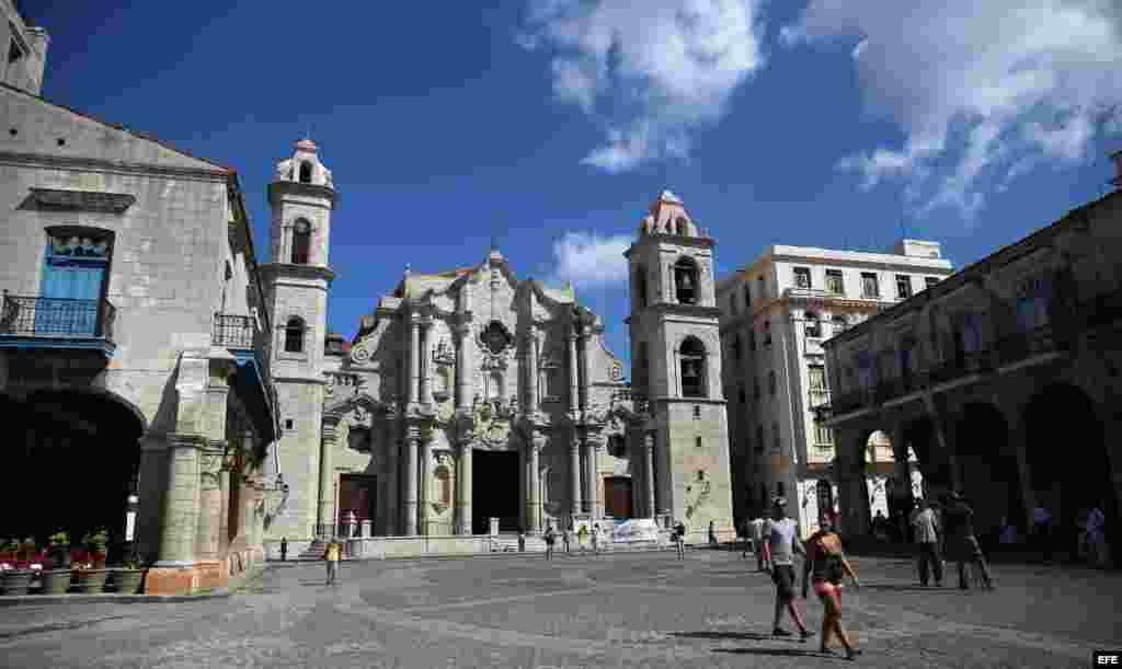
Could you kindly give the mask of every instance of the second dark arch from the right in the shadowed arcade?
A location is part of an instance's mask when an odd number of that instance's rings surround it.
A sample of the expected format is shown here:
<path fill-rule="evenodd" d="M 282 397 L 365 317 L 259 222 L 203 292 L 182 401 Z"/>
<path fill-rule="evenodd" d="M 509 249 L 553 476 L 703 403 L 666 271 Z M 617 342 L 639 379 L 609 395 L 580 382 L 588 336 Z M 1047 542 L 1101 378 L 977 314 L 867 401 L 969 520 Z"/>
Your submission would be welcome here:
<path fill-rule="evenodd" d="M 963 408 L 955 429 L 955 459 L 963 493 L 974 509 L 978 540 L 995 546 L 1001 520 L 1018 526 L 1027 521 L 1017 455 L 1009 443 L 1009 427 L 1001 411 L 988 403 Z"/>

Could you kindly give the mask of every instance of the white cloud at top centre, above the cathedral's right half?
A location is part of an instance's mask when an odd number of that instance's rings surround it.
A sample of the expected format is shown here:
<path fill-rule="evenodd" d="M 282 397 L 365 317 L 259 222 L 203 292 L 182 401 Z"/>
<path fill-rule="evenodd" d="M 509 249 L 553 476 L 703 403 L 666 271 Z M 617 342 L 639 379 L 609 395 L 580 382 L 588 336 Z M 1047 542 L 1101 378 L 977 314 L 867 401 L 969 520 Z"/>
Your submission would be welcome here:
<path fill-rule="evenodd" d="M 524 48 L 552 53 L 553 93 L 605 127 L 582 160 L 609 173 L 686 158 L 763 65 L 763 0 L 531 0 Z"/>

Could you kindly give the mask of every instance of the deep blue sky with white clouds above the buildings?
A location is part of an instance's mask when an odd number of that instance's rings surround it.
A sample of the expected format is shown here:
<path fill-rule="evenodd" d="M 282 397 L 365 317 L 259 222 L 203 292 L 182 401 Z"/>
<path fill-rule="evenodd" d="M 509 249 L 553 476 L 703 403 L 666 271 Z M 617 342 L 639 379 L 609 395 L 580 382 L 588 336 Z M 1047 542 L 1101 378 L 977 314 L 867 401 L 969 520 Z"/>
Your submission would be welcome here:
<path fill-rule="evenodd" d="M 494 235 L 626 360 L 618 252 L 662 188 L 721 276 L 902 230 L 963 267 L 1102 195 L 1122 149 L 1111 0 L 24 4 L 44 95 L 237 169 L 261 260 L 266 184 L 311 133 L 347 336 L 406 262 L 472 264 Z"/>

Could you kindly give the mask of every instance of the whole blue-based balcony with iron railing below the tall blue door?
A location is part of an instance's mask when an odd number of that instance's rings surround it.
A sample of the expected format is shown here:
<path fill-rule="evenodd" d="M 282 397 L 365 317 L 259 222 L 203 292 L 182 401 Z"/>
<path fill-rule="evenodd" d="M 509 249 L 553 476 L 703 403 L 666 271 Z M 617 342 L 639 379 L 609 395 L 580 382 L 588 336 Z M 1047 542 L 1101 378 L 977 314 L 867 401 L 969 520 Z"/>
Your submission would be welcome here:
<path fill-rule="evenodd" d="M 112 355 L 117 309 L 109 300 L 10 295 L 0 306 L 0 347 L 89 350 Z"/>

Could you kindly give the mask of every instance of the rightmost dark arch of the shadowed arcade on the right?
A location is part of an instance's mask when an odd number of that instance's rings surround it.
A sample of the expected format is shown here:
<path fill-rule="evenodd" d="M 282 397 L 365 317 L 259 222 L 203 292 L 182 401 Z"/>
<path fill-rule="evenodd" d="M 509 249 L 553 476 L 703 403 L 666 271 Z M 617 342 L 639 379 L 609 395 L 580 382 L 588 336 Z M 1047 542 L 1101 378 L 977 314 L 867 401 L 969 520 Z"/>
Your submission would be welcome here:
<path fill-rule="evenodd" d="M 1091 505 L 1106 514 L 1106 540 L 1118 546 L 1118 499 L 1091 398 L 1069 383 L 1047 385 L 1026 406 L 1024 435 L 1030 484 L 1038 503 L 1052 512 L 1059 550 L 1075 552 L 1076 523 Z"/>

